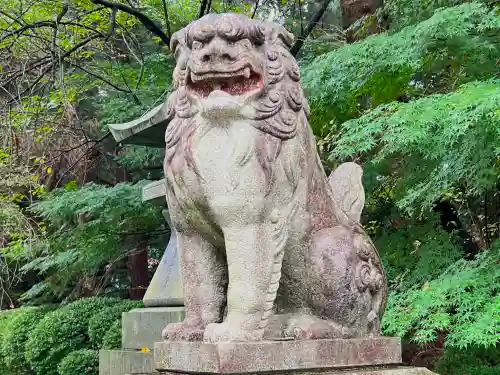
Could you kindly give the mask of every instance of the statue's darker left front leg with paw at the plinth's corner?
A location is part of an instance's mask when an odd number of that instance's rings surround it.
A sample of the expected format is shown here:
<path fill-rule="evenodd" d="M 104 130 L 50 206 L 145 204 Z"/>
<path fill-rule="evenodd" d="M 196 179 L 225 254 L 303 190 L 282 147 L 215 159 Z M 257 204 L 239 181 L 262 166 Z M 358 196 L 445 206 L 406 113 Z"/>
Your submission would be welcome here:
<path fill-rule="evenodd" d="M 186 317 L 163 330 L 167 340 L 199 341 L 210 323 L 222 320 L 227 272 L 219 249 L 195 231 L 178 233 Z"/>

